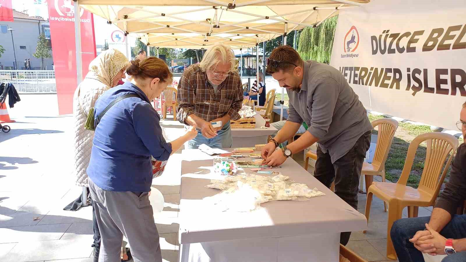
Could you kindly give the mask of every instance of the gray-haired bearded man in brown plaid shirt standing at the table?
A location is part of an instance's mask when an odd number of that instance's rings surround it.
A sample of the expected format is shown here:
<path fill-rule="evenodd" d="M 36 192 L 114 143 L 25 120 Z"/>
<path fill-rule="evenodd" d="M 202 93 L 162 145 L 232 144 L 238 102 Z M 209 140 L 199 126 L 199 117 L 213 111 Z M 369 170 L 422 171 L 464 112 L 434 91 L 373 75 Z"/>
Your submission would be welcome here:
<path fill-rule="evenodd" d="M 235 70 L 231 48 L 217 44 L 206 51 L 199 64 L 188 67 L 178 84 L 178 114 L 181 123 L 196 125 L 201 132 L 188 142 L 195 149 L 206 144 L 212 148 L 233 145 L 230 119 L 238 120 L 243 102 L 241 79 Z M 214 128 L 212 122 L 221 121 Z"/>

